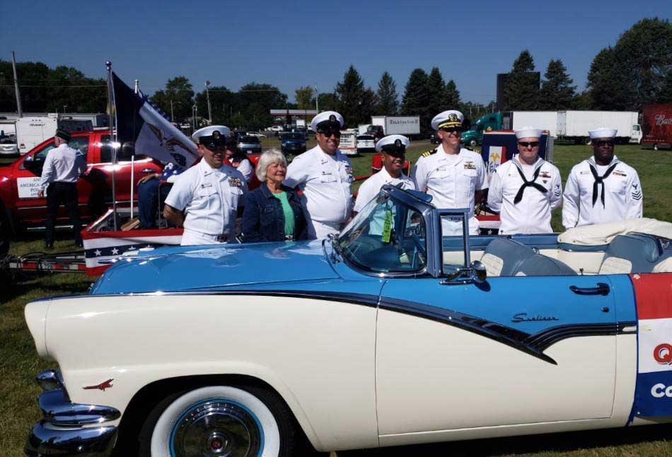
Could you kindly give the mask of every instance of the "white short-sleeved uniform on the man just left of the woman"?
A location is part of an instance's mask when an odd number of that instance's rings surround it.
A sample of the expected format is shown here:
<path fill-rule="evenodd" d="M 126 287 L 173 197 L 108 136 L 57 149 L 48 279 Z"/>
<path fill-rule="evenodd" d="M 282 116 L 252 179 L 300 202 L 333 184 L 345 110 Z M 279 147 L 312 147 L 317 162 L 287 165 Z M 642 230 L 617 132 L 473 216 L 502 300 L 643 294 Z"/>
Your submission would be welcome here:
<path fill-rule="evenodd" d="M 212 168 L 202 160 L 180 175 L 166 204 L 186 211 L 185 230 L 233 241 L 238 202 L 247 190 L 245 177 L 236 168 L 226 164 Z"/>

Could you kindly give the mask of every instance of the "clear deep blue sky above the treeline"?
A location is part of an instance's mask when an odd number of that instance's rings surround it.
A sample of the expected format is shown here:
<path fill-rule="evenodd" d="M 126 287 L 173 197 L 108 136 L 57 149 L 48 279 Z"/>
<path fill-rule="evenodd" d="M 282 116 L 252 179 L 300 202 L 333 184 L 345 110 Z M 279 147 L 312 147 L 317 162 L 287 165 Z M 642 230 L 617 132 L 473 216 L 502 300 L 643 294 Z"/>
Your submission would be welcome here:
<path fill-rule="evenodd" d="M 496 98 L 498 73 L 523 49 L 543 72 L 562 59 L 578 90 L 603 47 L 672 1 L 5 1 L 0 59 L 74 66 L 105 77 L 105 60 L 151 94 L 174 76 L 195 91 L 270 83 L 333 91 L 353 64 L 376 90 L 389 71 L 400 98 L 415 68 L 437 66 L 462 100 Z M 19 75 L 21 78 L 21 75 Z M 21 83 L 21 81 L 20 81 Z M 279 107 L 282 108 L 282 107 Z"/>

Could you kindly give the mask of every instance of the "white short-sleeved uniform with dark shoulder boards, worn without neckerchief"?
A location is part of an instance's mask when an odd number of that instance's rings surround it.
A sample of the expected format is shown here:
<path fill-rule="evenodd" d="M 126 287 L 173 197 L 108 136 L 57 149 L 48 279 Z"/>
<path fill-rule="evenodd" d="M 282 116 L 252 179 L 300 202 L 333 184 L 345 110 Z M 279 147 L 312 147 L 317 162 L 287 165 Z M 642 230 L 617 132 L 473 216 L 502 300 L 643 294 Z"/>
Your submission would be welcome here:
<path fill-rule="evenodd" d="M 478 233 L 474 193 L 487 188 L 487 171 L 480 154 L 464 148 L 459 154 L 446 154 L 440 144 L 434 154 L 418 159 L 413 169 L 413 180 L 417 190 L 427 190 L 435 207 L 469 208 L 470 233 Z M 451 233 L 446 233 L 444 227 L 444 234 Z"/>

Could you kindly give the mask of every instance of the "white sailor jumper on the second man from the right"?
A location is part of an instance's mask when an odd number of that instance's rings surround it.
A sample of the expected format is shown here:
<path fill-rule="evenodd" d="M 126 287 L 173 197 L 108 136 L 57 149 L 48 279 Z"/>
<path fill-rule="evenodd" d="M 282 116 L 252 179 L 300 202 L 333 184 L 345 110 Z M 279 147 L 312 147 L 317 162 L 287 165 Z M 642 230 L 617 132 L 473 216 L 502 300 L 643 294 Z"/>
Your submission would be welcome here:
<path fill-rule="evenodd" d="M 526 180 L 532 181 L 534 173 L 539 174 L 534 181 L 542 185 L 543 193 L 535 187 L 528 186 L 523 190 L 522 199 L 515 203 L 516 195 L 523 185 L 519 170 L 523 171 Z M 499 212 L 499 234 L 513 233 L 552 233 L 550 216 L 553 209 L 562 202 L 562 181 L 556 166 L 538 158 L 534 165 L 525 166 L 518 160 L 518 154 L 510 161 L 498 166 L 490 178 L 490 190 L 487 195 L 487 206 Z"/>

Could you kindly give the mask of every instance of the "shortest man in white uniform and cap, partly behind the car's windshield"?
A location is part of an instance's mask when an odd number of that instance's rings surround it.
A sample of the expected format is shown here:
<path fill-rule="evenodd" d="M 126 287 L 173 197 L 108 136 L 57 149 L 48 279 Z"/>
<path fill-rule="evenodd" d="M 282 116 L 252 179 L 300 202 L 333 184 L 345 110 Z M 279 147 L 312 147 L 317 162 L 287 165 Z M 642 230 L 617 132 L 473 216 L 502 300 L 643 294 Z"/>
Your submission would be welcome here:
<path fill-rule="evenodd" d="M 403 135 L 388 135 L 378 140 L 376 151 L 383 154 L 383 168 L 367 178 L 359 187 L 357 200 L 354 203 L 354 214 L 361 212 L 366 204 L 376 198 L 383 185 L 399 185 L 402 189 L 415 190 L 415 183 L 402 171 L 406 159 L 406 148 L 409 144 L 410 141 Z M 376 214 L 371 220 L 369 233 L 382 235 L 383 224 L 385 224 L 385 214 Z"/>

